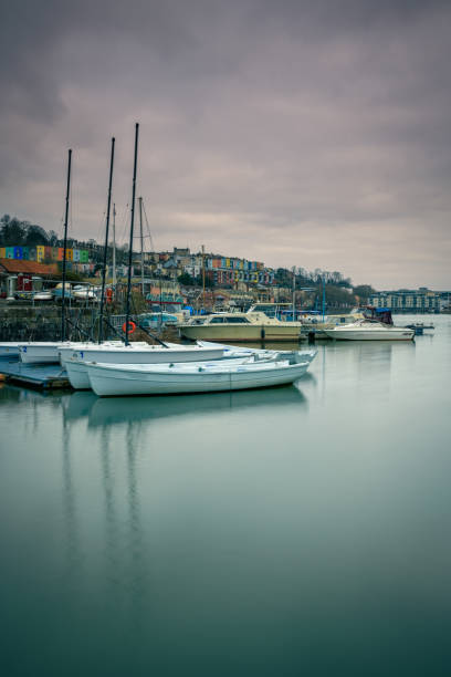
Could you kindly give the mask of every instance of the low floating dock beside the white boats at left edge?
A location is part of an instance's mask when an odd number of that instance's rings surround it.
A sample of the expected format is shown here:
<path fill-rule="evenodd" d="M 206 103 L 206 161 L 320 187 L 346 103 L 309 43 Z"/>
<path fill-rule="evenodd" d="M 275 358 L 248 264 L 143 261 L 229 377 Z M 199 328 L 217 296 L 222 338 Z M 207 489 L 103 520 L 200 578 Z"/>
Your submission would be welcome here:
<path fill-rule="evenodd" d="M 50 390 L 71 388 L 67 373 L 60 364 L 22 364 L 19 360 L 0 360 L 0 375 L 4 381 L 29 388 Z"/>

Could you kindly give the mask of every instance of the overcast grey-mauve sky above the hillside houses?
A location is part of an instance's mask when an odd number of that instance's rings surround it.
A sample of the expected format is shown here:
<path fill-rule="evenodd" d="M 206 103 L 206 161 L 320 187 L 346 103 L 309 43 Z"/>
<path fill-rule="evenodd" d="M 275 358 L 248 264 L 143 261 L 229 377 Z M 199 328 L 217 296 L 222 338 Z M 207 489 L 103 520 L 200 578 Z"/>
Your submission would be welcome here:
<path fill-rule="evenodd" d="M 451 3 L 0 0 L 0 215 L 450 289 Z M 149 242 L 148 240 L 146 241 Z"/>

